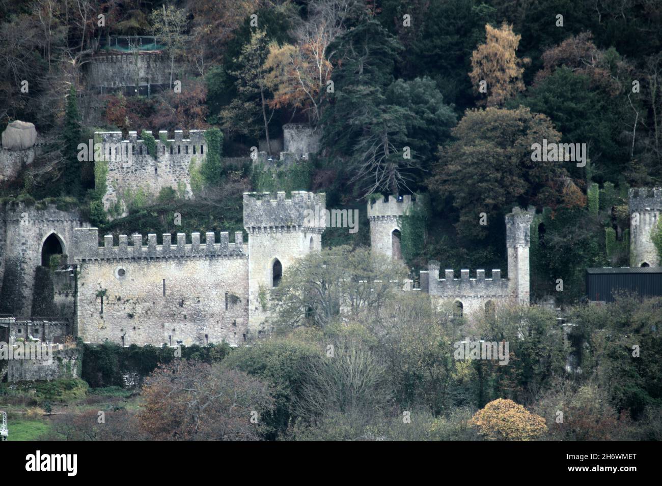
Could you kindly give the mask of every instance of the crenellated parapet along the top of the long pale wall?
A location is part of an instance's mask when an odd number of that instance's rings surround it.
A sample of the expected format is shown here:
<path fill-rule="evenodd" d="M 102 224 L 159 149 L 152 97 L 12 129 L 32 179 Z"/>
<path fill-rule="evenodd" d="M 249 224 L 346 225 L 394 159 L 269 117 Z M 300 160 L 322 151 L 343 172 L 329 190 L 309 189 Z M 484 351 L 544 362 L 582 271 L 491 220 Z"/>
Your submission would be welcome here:
<path fill-rule="evenodd" d="M 186 234 L 177 233 L 173 242 L 170 233 L 163 234 L 163 244 L 156 244 L 156 234 L 147 235 L 147 245 L 139 234 L 119 235 L 119 245 L 113 243 L 113 235 L 103 237 L 103 247 L 99 247 L 98 228 L 75 228 L 73 230 L 73 261 L 82 263 L 89 260 L 138 260 L 138 259 L 173 259 L 189 257 L 246 257 L 242 231 L 234 233 L 234 243 L 230 243 L 227 231 L 220 233 L 216 243 L 216 233 L 205 233 L 206 243 L 200 243 L 200 233 L 191 233 L 191 242 L 186 243 Z M 132 245 L 129 245 L 129 241 Z"/>

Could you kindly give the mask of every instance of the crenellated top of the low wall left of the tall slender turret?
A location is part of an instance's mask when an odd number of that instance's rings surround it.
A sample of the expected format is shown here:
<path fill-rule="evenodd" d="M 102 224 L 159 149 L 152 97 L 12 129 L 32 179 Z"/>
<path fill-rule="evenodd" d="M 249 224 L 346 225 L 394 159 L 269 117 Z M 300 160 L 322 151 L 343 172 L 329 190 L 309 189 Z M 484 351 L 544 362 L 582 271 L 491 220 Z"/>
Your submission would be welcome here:
<path fill-rule="evenodd" d="M 439 263 L 428 263 L 428 270 L 420 272 L 420 288 L 431 296 L 441 297 L 507 297 L 508 279 L 501 278 L 501 270 L 492 270 L 492 278 L 485 278 L 485 270 L 476 270 L 476 278 L 469 278 L 469 270 L 460 270 L 460 278 L 454 278 L 455 271 L 444 270 L 439 278 Z"/>

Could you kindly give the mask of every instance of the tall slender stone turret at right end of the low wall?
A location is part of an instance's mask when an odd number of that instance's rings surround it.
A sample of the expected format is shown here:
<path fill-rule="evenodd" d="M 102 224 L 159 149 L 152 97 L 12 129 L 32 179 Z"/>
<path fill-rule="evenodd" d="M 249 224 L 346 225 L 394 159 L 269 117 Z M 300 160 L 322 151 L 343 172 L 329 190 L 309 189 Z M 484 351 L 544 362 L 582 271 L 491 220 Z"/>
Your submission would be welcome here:
<path fill-rule="evenodd" d="M 512 208 L 512 213 L 506 215 L 508 284 L 510 295 L 518 304 L 530 302 L 529 248 L 534 214 L 536 208 Z"/>

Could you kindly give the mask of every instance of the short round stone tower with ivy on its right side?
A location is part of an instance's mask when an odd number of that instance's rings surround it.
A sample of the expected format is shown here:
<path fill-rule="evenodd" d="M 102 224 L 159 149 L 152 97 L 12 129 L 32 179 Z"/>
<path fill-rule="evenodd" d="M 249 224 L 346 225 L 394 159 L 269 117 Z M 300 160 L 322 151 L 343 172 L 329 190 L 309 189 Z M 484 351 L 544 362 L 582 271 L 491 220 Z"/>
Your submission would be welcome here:
<path fill-rule="evenodd" d="M 370 220 L 370 248 L 372 253 L 402 259 L 400 250 L 400 232 L 402 216 L 416 204 L 412 196 L 383 196 L 368 202 L 368 220 Z"/>

